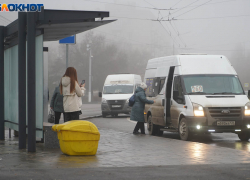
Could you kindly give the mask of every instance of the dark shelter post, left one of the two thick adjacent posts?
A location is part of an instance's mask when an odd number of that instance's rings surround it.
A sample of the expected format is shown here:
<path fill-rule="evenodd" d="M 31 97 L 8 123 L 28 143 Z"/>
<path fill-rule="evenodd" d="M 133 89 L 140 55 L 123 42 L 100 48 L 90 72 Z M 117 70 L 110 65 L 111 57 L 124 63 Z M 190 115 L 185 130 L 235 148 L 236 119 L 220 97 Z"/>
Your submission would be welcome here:
<path fill-rule="evenodd" d="M 26 12 L 18 12 L 19 149 L 26 149 Z"/>

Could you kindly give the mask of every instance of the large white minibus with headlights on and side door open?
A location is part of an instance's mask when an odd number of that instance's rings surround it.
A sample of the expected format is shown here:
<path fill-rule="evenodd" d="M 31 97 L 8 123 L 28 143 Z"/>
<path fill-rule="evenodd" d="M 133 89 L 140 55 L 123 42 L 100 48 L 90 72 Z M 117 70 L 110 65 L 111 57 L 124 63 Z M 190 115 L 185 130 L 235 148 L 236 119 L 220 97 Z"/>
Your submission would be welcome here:
<path fill-rule="evenodd" d="M 250 102 L 231 63 L 222 55 L 176 55 L 148 61 L 145 120 L 151 135 L 232 132 L 250 138 Z"/>

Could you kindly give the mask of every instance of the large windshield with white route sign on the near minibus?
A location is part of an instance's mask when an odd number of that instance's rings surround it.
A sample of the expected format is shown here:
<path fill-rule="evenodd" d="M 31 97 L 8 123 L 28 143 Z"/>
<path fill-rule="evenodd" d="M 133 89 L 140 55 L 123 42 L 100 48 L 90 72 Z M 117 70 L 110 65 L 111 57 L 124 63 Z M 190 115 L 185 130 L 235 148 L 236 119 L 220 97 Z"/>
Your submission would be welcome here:
<path fill-rule="evenodd" d="M 244 94 L 235 75 L 182 76 L 187 94 Z"/>

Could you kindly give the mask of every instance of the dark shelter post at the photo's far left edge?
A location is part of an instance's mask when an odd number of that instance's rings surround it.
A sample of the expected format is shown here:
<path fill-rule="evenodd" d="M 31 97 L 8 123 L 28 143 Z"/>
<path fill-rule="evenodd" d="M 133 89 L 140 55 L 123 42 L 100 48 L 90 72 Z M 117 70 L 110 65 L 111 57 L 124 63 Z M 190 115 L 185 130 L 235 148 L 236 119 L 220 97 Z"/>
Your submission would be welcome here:
<path fill-rule="evenodd" d="M 4 140 L 4 26 L 0 26 L 0 140 Z"/>

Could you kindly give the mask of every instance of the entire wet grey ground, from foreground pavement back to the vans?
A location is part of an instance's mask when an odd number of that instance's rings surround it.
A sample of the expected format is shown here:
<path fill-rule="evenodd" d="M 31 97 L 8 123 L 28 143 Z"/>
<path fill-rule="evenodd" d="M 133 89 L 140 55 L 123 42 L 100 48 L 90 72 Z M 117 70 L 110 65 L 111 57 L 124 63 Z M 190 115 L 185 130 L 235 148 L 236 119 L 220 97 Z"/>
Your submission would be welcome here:
<path fill-rule="evenodd" d="M 1 142 L 0 180 L 250 179 L 250 142 L 239 141 L 236 134 L 184 142 L 176 133 L 132 135 L 135 122 L 125 115 L 89 121 L 101 133 L 96 156 L 67 156 L 43 150 L 42 144 L 37 153 L 26 153 L 17 149 L 17 141 Z"/>

